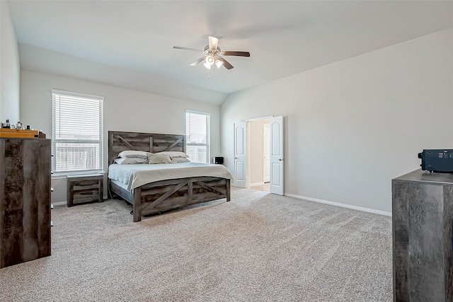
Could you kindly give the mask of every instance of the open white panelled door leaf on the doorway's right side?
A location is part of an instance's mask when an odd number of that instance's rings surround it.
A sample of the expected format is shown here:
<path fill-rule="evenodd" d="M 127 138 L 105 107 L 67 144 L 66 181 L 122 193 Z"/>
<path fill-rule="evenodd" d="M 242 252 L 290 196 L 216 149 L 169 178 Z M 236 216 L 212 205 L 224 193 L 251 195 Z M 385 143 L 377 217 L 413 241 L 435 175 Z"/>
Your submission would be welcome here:
<path fill-rule="evenodd" d="M 270 118 L 270 192 L 283 195 L 283 117 Z"/>

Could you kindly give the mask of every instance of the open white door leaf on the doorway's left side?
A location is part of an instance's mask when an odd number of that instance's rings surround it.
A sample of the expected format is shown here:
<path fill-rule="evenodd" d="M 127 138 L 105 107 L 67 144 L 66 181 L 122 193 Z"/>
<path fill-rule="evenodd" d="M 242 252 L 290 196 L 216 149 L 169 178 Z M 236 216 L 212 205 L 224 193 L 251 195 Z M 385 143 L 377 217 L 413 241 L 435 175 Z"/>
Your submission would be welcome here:
<path fill-rule="evenodd" d="M 247 122 L 234 123 L 234 186 L 247 187 Z"/>

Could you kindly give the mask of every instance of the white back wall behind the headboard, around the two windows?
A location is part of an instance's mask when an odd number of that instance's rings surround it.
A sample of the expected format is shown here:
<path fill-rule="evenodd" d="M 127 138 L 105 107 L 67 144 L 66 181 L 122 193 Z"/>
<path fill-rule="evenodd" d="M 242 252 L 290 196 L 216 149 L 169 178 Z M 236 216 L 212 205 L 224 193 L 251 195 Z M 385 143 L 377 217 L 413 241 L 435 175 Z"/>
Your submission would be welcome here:
<path fill-rule="evenodd" d="M 109 130 L 185 134 L 185 110 L 210 112 L 211 155 L 220 154 L 219 106 L 193 100 L 132 91 L 63 76 L 21 71 L 21 119 L 52 138 L 51 89 L 101 95 L 104 99 L 104 170 L 107 170 Z M 106 178 L 105 178 L 106 180 Z M 66 201 L 66 180 L 52 180 L 52 202 Z M 105 192 L 106 192 L 106 185 Z"/>

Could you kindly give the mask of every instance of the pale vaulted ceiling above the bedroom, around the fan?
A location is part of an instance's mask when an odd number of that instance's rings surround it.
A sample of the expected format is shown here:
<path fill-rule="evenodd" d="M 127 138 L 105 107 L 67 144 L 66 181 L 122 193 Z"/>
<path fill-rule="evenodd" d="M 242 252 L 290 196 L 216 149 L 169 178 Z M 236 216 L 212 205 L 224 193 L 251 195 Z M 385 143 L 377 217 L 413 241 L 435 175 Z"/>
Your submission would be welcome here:
<path fill-rule="evenodd" d="M 221 104 L 226 95 L 453 27 L 453 1 L 8 1 L 21 68 Z M 208 36 L 234 69 L 190 66 Z M 370 71 L 372 72 L 372 71 Z"/>

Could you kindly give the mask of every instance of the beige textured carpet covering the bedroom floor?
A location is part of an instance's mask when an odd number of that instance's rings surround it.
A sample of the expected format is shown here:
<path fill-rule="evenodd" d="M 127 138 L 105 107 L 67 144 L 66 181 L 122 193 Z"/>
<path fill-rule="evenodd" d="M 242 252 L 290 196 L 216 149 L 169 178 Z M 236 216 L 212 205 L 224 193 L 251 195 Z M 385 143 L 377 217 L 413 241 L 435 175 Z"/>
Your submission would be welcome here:
<path fill-rule="evenodd" d="M 391 218 L 241 189 L 132 222 L 52 210 L 52 255 L 0 269 L 0 301 L 392 301 Z"/>

